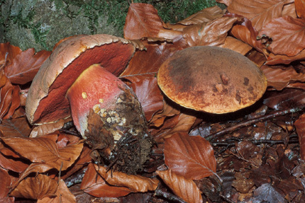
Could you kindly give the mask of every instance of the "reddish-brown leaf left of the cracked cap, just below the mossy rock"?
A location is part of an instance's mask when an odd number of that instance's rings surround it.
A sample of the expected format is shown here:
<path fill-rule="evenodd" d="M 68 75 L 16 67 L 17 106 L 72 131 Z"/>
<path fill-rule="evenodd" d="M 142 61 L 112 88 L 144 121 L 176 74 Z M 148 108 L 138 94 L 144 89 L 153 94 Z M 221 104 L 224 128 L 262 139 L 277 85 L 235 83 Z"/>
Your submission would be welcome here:
<path fill-rule="evenodd" d="M 33 48 L 18 54 L 4 72 L 11 83 L 25 84 L 33 80 L 41 64 L 50 56 L 51 52 L 40 51 L 35 54 Z"/>

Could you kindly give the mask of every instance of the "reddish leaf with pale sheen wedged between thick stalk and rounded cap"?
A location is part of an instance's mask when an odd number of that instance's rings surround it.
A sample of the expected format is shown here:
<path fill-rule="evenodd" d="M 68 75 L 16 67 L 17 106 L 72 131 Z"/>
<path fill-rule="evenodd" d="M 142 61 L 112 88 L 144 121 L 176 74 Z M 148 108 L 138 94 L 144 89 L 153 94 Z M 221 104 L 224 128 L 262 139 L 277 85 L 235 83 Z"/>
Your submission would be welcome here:
<path fill-rule="evenodd" d="M 157 78 L 153 75 L 125 76 L 125 79 L 131 81 L 128 84 L 133 88 L 145 113 L 146 120 L 150 120 L 155 112 L 163 108 L 163 95 L 157 86 Z"/>

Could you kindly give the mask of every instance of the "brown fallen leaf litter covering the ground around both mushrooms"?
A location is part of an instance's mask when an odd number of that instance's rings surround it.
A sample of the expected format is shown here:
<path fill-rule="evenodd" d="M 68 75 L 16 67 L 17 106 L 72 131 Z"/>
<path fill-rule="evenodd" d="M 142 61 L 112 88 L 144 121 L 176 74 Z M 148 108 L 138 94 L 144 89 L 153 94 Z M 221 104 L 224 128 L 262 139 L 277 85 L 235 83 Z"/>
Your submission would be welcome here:
<path fill-rule="evenodd" d="M 94 163 L 71 120 L 30 127 L 24 101 L 50 52 L 0 44 L 0 202 L 304 202 L 304 1 L 218 2 L 227 9 L 205 8 L 175 24 L 149 4 L 128 10 L 124 37 L 145 50 L 120 78 L 138 96 L 155 139 L 138 175 Z M 162 62 L 202 45 L 260 66 L 268 83 L 262 100 L 219 116 L 166 98 L 156 79 Z"/>

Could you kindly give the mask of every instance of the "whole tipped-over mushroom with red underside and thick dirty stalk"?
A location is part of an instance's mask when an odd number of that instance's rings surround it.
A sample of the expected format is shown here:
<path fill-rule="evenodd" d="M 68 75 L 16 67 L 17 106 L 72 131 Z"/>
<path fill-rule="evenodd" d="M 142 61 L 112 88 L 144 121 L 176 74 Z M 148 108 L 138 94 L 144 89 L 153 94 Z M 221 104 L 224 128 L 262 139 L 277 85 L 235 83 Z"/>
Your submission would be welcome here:
<path fill-rule="evenodd" d="M 72 114 L 96 161 L 116 162 L 126 173 L 142 170 L 152 138 L 138 98 L 117 77 L 134 52 L 131 41 L 111 35 L 79 35 L 60 43 L 28 91 L 29 122 L 56 122 Z"/>

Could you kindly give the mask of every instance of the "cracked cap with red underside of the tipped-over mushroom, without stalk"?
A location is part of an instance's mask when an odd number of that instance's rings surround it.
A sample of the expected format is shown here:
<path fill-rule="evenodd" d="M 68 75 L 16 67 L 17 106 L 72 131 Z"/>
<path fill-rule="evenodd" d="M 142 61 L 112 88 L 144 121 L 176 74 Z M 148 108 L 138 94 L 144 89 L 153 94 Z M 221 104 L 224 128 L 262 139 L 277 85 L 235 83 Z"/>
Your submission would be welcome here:
<path fill-rule="evenodd" d="M 28 91 L 26 116 L 30 124 L 69 117 L 66 93 L 82 71 L 100 64 L 118 76 L 134 52 L 133 42 L 104 34 L 76 35 L 61 42 L 40 67 Z"/>

